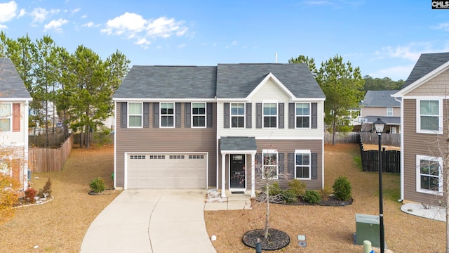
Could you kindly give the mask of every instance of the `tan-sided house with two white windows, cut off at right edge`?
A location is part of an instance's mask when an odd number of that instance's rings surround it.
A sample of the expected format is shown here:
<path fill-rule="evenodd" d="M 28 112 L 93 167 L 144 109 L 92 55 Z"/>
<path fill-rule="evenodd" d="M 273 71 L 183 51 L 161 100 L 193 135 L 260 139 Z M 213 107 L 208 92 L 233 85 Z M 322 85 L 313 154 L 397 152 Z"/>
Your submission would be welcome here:
<path fill-rule="evenodd" d="M 448 94 L 449 53 L 424 53 L 403 89 L 392 95 L 402 104 L 402 200 L 438 205 L 443 194 L 441 168 L 445 157 L 438 155 L 436 141 L 443 141 L 447 149 Z"/>

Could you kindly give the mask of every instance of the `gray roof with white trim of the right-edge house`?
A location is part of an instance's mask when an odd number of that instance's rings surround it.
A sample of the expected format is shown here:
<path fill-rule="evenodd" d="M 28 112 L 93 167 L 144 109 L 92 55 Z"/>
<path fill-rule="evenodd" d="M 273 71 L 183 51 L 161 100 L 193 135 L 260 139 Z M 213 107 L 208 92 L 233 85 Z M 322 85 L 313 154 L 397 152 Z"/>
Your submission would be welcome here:
<path fill-rule="evenodd" d="M 449 53 L 422 53 L 402 89 L 391 96 L 404 96 L 448 69 Z"/>

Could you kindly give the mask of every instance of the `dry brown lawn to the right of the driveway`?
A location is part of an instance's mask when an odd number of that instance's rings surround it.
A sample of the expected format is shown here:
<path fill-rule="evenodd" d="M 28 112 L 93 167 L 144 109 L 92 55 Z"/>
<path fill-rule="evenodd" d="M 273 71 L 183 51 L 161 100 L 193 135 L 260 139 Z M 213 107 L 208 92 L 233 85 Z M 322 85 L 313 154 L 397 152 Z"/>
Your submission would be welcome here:
<path fill-rule="evenodd" d="M 346 207 L 270 205 L 272 228 L 288 233 L 290 245 L 274 252 L 363 252 L 353 244 L 355 214 L 379 215 L 377 173 L 358 169 L 353 157 L 358 145 L 325 147 L 325 186 L 332 188 L 338 176 L 347 176 L 354 202 Z M 401 212 L 399 176 L 382 174 L 384 191 L 385 242 L 393 252 L 445 252 L 445 223 Z M 218 253 L 255 252 L 241 242 L 250 230 L 263 228 L 265 205 L 253 202 L 252 210 L 205 212 L 208 234 Z M 298 245 L 297 235 L 305 235 L 307 247 Z M 376 248 L 375 252 L 379 252 Z"/>

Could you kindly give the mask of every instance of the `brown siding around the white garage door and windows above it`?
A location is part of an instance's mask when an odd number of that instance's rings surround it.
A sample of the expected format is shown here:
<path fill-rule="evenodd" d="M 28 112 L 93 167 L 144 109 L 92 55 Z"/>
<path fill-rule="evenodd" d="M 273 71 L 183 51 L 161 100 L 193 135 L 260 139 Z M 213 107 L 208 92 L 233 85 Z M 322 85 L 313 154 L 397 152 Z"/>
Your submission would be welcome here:
<path fill-rule="evenodd" d="M 121 106 L 117 103 L 116 115 L 121 115 Z M 178 128 L 155 128 L 153 103 L 149 108 L 149 128 L 116 129 L 116 187 L 124 187 L 124 160 L 126 152 L 196 152 L 208 153 L 208 186 L 216 187 L 216 136 L 217 105 L 213 103 L 213 127 L 186 128 L 185 117 L 180 117 Z M 185 106 L 181 106 L 180 115 L 185 115 Z M 120 120 L 120 117 L 117 117 Z M 117 122 L 120 125 L 120 122 Z"/>

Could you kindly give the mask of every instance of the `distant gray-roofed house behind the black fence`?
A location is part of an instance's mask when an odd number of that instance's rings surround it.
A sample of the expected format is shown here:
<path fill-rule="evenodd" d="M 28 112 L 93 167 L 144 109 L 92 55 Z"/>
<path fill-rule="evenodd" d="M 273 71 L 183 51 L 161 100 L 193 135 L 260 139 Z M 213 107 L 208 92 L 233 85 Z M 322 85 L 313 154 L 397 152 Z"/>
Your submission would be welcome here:
<path fill-rule="evenodd" d="M 381 118 L 387 123 L 384 132 L 401 133 L 401 103 L 391 94 L 397 91 L 366 91 L 361 103 L 361 131 L 374 131 L 373 122 Z"/>

